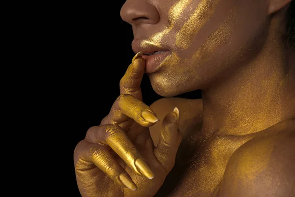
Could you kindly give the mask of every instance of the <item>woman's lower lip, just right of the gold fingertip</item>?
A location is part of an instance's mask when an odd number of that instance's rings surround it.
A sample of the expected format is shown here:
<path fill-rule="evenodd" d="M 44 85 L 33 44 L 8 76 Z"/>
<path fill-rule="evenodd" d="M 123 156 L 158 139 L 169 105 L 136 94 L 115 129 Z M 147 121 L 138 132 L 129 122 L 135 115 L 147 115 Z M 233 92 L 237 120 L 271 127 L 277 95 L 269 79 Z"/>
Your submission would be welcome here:
<path fill-rule="evenodd" d="M 146 72 L 147 73 L 156 72 L 160 68 L 161 63 L 170 54 L 171 54 L 170 51 L 165 51 L 164 53 L 159 53 L 159 54 L 150 55 L 150 56 L 143 55 L 143 59 L 146 60 Z"/>

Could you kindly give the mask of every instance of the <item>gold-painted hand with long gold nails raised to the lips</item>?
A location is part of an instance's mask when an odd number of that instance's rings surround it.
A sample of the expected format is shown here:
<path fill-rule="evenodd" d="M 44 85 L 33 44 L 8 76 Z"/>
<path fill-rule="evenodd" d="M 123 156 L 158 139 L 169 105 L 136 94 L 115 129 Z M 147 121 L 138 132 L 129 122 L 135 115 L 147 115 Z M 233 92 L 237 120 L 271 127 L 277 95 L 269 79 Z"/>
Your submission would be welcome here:
<path fill-rule="evenodd" d="M 83 197 L 153 197 L 175 164 L 181 141 L 177 108 L 162 121 L 153 146 L 148 127 L 159 119 L 142 102 L 142 53 L 120 81 L 120 96 L 99 126 L 91 127 L 74 151 L 76 179 Z"/>

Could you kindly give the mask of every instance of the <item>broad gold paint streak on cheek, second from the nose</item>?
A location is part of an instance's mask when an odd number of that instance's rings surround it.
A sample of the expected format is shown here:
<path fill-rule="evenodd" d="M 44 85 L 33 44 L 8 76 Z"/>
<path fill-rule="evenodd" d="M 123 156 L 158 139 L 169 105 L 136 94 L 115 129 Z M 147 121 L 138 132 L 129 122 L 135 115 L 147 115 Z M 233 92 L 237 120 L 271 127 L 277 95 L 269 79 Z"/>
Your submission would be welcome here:
<path fill-rule="evenodd" d="M 202 0 L 197 9 L 191 15 L 189 20 L 184 24 L 182 29 L 177 32 L 176 45 L 182 49 L 187 49 L 193 42 L 197 33 L 207 23 L 213 15 L 219 0 Z"/>

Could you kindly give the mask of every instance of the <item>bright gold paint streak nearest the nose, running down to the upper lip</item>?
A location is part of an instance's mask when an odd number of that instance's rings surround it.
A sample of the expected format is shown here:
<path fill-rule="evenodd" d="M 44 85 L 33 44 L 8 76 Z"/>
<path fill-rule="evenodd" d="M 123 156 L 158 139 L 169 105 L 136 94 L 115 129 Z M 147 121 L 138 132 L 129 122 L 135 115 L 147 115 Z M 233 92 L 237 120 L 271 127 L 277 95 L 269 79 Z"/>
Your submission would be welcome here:
<path fill-rule="evenodd" d="M 148 40 L 144 40 L 140 43 L 141 47 L 146 47 L 148 45 L 156 45 L 157 47 L 161 47 L 161 40 L 164 35 L 168 34 L 175 26 L 177 20 L 180 18 L 183 10 L 187 7 L 187 5 L 192 0 L 179 0 L 176 2 L 169 10 L 168 14 L 168 25 L 163 31 L 155 33 Z"/>

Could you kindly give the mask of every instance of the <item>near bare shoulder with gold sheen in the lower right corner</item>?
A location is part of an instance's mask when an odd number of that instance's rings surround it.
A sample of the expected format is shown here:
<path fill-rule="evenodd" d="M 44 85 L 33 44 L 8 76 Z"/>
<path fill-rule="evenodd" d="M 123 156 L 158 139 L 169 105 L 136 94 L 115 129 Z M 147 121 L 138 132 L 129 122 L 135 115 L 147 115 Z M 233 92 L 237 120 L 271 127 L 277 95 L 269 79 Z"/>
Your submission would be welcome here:
<path fill-rule="evenodd" d="M 295 118 L 249 140 L 232 155 L 220 197 L 291 197 L 295 194 Z"/>

